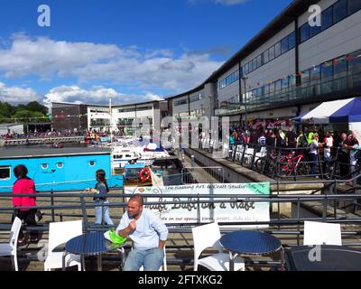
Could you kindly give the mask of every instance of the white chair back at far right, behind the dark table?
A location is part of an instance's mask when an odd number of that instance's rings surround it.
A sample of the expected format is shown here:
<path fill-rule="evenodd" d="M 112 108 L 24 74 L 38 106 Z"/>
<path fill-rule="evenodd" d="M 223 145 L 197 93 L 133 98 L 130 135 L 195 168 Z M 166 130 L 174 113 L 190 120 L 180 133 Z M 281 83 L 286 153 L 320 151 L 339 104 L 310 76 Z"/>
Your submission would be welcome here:
<path fill-rule="evenodd" d="M 303 245 L 342 246 L 341 225 L 321 222 L 304 222 Z"/>

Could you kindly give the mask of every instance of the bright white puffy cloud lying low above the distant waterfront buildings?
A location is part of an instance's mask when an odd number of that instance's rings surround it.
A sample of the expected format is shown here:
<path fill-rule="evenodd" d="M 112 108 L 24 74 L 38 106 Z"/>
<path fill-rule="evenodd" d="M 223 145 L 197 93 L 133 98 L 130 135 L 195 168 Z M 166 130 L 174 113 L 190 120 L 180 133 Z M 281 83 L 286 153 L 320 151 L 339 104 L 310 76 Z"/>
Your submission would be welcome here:
<path fill-rule="evenodd" d="M 108 104 L 109 97 L 112 98 L 113 105 L 162 99 L 160 96 L 157 96 L 151 92 L 147 92 L 144 95 L 127 95 L 120 93 L 115 89 L 106 89 L 103 87 L 81 89 L 78 86 L 61 86 L 51 89 L 49 93 L 45 95 L 44 103 L 47 107 L 51 106 L 51 102 L 106 105 Z"/>

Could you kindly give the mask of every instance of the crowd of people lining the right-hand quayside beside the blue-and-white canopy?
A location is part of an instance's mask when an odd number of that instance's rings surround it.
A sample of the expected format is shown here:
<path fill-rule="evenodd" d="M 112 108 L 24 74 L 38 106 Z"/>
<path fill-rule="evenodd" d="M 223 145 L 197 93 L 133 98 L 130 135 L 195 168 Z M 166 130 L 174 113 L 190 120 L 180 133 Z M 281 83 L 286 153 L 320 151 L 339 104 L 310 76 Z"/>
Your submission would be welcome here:
<path fill-rule="evenodd" d="M 246 130 L 241 126 L 232 126 L 229 130 L 229 142 L 231 146 L 258 144 L 270 148 L 295 149 L 296 152 L 305 155 L 305 161 L 310 164 L 310 175 L 316 174 L 315 168 L 319 160 L 323 163 L 322 169 L 325 173 L 335 169 L 334 163 L 337 160 L 342 178 L 356 171 L 356 153 L 361 148 L 355 131 L 347 135 L 346 132 L 322 130 L 317 126 L 303 127 L 298 133 L 292 126 L 287 130 L 280 128 Z"/>

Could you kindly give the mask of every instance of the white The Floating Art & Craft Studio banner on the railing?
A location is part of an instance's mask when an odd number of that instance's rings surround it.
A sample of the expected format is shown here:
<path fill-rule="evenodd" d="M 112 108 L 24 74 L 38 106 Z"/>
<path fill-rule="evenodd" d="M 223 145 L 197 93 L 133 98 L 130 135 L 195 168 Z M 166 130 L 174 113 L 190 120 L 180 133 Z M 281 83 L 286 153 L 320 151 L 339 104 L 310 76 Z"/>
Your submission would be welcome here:
<path fill-rule="evenodd" d="M 269 182 L 257 183 L 197 183 L 181 186 L 161 187 L 125 187 L 126 194 L 154 194 L 154 198 L 148 198 L 145 202 L 156 202 L 153 205 L 144 206 L 159 216 L 165 224 L 195 223 L 200 219 L 201 223 L 209 223 L 213 220 L 222 223 L 232 222 L 257 222 L 270 220 L 270 203 L 267 201 L 244 201 L 218 203 L 200 203 L 198 198 L 181 198 L 182 194 L 207 194 L 209 198 L 199 200 L 236 200 L 235 198 L 211 198 L 212 194 L 227 195 L 259 195 L 270 194 Z M 162 198 L 162 194 L 174 194 L 173 198 Z M 164 201 L 174 201 L 174 204 L 164 204 Z M 177 203 L 189 201 L 188 203 Z M 199 209 L 199 210 L 198 210 Z M 249 227 L 247 225 L 245 227 Z M 251 227 L 265 227 L 251 225 Z"/>

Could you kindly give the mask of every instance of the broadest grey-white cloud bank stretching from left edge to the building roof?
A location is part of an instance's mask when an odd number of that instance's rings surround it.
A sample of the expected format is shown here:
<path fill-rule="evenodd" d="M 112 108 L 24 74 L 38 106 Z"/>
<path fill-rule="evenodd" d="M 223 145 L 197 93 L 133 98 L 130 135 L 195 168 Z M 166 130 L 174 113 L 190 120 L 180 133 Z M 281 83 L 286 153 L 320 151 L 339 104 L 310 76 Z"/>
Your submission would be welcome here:
<path fill-rule="evenodd" d="M 143 90 L 180 92 L 198 86 L 223 63 L 209 53 L 183 53 L 136 46 L 54 41 L 14 34 L 11 44 L 0 46 L 0 72 L 7 78 L 75 78 L 79 83 L 113 83 Z M 76 82 L 76 81 L 74 81 Z"/>

